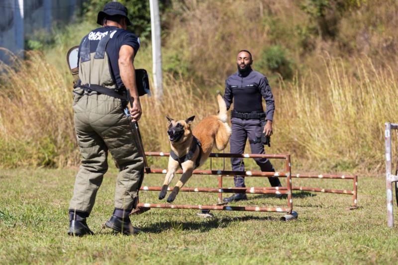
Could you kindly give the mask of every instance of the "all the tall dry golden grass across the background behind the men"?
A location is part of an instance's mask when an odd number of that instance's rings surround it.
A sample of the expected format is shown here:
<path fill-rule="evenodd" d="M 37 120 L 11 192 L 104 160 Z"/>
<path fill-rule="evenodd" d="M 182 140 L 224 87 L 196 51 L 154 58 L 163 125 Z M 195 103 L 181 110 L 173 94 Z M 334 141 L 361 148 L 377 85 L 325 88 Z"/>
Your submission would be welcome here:
<path fill-rule="evenodd" d="M 1 167 L 79 164 L 71 84 L 37 52 L 14 68 L 2 65 Z M 308 73 L 274 89 L 275 134 L 270 153 L 294 155 L 294 166 L 317 170 L 381 170 L 384 122 L 397 122 L 397 78 L 370 59 L 346 65 L 325 55 L 325 75 Z M 164 79 L 164 99 L 142 97 L 141 133 L 147 151 L 168 151 L 166 118 L 216 113 L 215 95 L 191 81 Z M 220 88 L 222 89 L 222 88 Z M 246 150 L 250 152 L 249 149 Z"/>

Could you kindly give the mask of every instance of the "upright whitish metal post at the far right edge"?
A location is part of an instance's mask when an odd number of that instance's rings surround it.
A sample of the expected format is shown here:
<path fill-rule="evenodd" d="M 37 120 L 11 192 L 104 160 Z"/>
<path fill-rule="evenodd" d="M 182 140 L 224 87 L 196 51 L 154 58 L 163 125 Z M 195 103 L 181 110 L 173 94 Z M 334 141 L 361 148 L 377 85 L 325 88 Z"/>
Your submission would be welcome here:
<path fill-rule="evenodd" d="M 386 122 L 385 131 L 385 142 L 386 142 L 386 187 L 387 187 L 387 226 L 394 226 L 394 215 L 393 215 L 393 182 L 390 180 L 392 172 L 391 167 L 391 123 Z"/>

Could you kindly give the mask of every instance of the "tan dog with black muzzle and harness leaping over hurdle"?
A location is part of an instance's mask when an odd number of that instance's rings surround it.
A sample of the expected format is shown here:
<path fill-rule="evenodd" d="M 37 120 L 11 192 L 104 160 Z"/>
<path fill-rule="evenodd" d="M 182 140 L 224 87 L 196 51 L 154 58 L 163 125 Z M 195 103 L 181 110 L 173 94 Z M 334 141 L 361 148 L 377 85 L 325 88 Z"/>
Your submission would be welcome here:
<path fill-rule="evenodd" d="M 159 193 L 160 200 L 166 196 L 167 188 L 179 166 L 183 169 L 183 175 L 167 198 L 167 202 L 174 201 L 182 186 L 192 176 L 194 169 L 203 165 L 207 160 L 213 146 L 219 151 L 224 150 L 227 146 L 231 136 L 231 128 L 226 123 L 227 107 L 220 94 L 217 95 L 217 101 L 219 107 L 218 115 L 205 117 L 193 131 L 191 130 L 191 124 L 195 116 L 186 120 L 174 120 L 167 117 L 167 133 L 172 152 L 169 157 L 165 182 Z"/>

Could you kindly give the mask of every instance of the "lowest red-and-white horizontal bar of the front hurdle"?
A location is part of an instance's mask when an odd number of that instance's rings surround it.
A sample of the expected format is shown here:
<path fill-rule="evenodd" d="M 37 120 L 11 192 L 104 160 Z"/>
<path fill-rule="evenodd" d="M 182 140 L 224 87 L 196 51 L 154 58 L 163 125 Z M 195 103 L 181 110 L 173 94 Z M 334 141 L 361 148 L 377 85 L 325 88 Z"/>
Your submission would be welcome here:
<path fill-rule="evenodd" d="M 218 206 L 218 205 L 179 205 L 138 203 L 138 208 L 167 208 L 167 209 L 192 209 L 192 210 L 219 210 L 219 211 L 250 211 L 250 212 L 289 212 L 288 208 L 279 207 L 253 207 L 253 206 Z"/>

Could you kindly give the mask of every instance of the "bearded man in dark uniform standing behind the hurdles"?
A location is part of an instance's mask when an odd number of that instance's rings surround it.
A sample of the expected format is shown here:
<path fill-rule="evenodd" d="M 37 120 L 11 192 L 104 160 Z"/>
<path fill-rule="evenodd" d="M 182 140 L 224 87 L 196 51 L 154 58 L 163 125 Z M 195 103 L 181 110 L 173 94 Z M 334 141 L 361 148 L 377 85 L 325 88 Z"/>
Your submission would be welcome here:
<path fill-rule="evenodd" d="M 264 144 L 261 141 L 262 133 L 272 135 L 272 120 L 274 116 L 274 97 L 270 85 L 265 76 L 253 71 L 252 55 L 247 50 L 241 50 L 237 56 L 238 71 L 228 77 L 225 81 L 224 100 L 227 108 L 231 106 L 232 100 L 234 109 L 231 111 L 232 134 L 229 140 L 230 152 L 243 154 L 246 140 L 249 138 L 250 149 L 253 154 L 265 154 Z M 264 112 L 262 98 L 265 99 L 267 110 Z M 262 130 L 262 122 L 266 120 Z M 254 159 L 263 172 L 275 172 L 274 167 L 268 159 Z M 231 158 L 233 171 L 245 171 L 245 164 L 242 158 Z M 281 186 L 278 178 L 268 178 L 271 185 Z M 234 177 L 235 187 L 245 187 L 245 178 Z M 245 193 L 236 193 L 224 198 L 223 202 L 245 200 Z"/>

